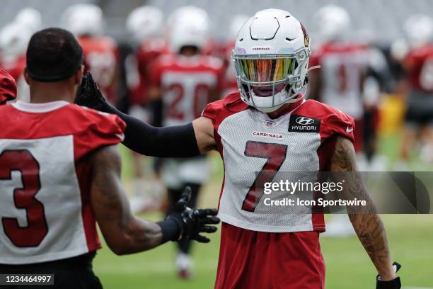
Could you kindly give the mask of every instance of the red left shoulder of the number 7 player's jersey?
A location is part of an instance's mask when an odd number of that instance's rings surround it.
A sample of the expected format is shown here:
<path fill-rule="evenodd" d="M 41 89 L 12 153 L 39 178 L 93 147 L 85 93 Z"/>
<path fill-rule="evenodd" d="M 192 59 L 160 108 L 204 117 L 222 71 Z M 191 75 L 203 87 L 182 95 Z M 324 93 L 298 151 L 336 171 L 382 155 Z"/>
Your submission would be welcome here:
<path fill-rule="evenodd" d="M 204 116 L 204 118 L 210 118 L 215 128 L 217 128 L 224 118 L 234 113 L 245 111 L 247 108 L 248 104 L 242 101 L 241 94 L 236 91 L 228 94 L 219 101 L 208 103 L 206 108 L 204 108 L 202 116 Z"/>

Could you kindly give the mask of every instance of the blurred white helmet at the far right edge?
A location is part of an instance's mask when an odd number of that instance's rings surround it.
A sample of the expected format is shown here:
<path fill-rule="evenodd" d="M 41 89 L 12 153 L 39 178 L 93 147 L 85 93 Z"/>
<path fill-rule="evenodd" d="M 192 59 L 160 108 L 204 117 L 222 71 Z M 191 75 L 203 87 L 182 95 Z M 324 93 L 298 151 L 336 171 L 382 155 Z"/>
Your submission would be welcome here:
<path fill-rule="evenodd" d="M 433 20 L 427 15 L 410 16 L 403 28 L 411 47 L 419 47 L 432 40 Z"/>

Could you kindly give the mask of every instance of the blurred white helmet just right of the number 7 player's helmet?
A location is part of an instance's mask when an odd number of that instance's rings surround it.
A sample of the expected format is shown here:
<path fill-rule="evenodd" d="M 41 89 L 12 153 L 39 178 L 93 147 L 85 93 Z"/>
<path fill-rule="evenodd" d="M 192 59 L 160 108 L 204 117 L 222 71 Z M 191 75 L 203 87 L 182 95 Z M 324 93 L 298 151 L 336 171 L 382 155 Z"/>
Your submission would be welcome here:
<path fill-rule="evenodd" d="M 325 41 L 342 40 L 350 30 L 350 16 L 344 8 L 327 5 L 320 8 L 313 16 L 316 28 Z"/>

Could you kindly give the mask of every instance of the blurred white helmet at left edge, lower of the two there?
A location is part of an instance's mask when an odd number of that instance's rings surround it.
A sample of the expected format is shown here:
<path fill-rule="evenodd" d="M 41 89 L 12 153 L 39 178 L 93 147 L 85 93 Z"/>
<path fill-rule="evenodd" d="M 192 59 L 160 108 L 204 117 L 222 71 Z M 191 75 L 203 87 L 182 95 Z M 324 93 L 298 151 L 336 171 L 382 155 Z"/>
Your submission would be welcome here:
<path fill-rule="evenodd" d="M 23 29 L 20 23 L 12 22 L 0 30 L 0 52 L 5 60 L 21 57 L 27 50 L 28 41 L 33 33 Z"/>

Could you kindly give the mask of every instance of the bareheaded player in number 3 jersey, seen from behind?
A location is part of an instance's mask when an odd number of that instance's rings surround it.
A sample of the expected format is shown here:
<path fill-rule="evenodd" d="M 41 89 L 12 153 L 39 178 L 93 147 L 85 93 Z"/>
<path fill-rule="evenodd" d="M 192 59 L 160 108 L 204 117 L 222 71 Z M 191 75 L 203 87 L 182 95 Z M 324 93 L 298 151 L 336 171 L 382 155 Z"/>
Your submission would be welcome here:
<path fill-rule="evenodd" d="M 149 222 L 132 215 L 120 183 L 125 123 L 74 105 L 83 51 L 67 30 L 35 33 L 27 50 L 30 103 L 0 106 L 0 273 L 54 274 L 50 288 L 102 288 L 92 269 L 100 241 L 116 254 L 215 232 L 216 210 L 186 207 Z"/>

